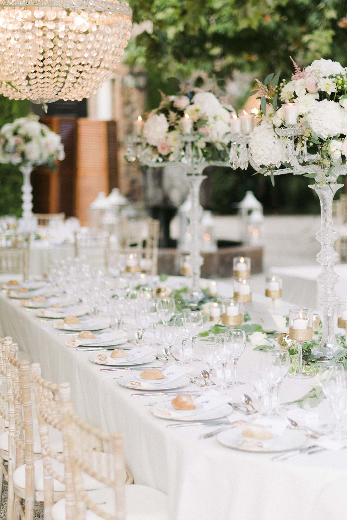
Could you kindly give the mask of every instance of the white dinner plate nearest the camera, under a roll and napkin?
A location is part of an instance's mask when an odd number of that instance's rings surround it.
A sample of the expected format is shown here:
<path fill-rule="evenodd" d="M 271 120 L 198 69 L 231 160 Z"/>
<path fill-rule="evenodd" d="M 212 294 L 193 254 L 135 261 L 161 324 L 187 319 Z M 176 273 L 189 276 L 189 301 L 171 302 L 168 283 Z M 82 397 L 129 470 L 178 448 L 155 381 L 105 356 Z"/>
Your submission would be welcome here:
<path fill-rule="evenodd" d="M 217 440 L 227 448 L 240 451 L 252 451 L 256 453 L 273 453 L 301 448 L 306 444 L 307 437 L 297 430 L 285 430 L 279 437 L 261 441 L 261 445 L 241 444 L 241 431 L 243 427 L 230 428 L 217 435 Z"/>

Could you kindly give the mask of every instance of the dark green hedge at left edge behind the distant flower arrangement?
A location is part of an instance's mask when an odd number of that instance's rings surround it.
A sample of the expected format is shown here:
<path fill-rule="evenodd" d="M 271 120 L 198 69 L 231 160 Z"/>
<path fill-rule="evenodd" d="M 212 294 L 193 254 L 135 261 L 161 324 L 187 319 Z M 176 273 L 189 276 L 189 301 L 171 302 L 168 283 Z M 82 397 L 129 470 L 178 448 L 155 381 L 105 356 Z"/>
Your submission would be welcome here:
<path fill-rule="evenodd" d="M 29 102 L 14 101 L 0 96 L 0 128 L 17 118 L 27 115 Z M 0 215 L 21 214 L 22 174 L 17 166 L 0 164 Z"/>

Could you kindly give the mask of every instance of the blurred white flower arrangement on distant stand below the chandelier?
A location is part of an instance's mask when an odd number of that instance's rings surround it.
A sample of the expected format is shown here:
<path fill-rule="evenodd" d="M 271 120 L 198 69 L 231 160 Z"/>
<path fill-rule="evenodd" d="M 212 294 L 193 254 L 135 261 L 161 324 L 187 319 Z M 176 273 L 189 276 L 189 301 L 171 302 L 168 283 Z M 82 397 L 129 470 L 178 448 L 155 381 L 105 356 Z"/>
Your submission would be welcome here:
<path fill-rule="evenodd" d="M 47 165 L 65 158 L 60 135 L 38 121 L 38 116 L 16 119 L 0 130 L 0 163 Z"/>

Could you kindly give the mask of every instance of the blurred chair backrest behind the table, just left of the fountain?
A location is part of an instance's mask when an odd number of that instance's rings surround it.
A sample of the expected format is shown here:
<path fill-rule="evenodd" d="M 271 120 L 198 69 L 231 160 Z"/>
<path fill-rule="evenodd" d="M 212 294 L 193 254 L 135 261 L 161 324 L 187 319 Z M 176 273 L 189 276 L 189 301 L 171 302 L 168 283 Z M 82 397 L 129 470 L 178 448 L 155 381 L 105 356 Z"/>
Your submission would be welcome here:
<path fill-rule="evenodd" d="M 136 253 L 141 270 L 149 275 L 157 274 L 158 245 L 159 220 L 153 218 L 123 219 L 121 251 L 119 252 L 125 255 Z"/>

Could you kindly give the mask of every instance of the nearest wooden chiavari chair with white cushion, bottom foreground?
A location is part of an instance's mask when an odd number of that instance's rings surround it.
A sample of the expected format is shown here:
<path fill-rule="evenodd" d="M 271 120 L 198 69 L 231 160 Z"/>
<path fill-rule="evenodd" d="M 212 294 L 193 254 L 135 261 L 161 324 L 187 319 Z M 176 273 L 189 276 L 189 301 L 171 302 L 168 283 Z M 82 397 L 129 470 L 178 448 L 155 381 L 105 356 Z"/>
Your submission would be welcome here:
<path fill-rule="evenodd" d="M 70 387 L 60 385 L 67 435 L 66 469 L 71 473 L 73 494 L 52 508 L 54 520 L 168 520 L 168 498 L 148 486 L 124 486 L 122 435 L 108 434 L 83 421 L 73 410 Z M 100 454 L 104 458 L 100 458 Z M 104 484 L 104 488 L 86 491 L 84 475 Z"/>

